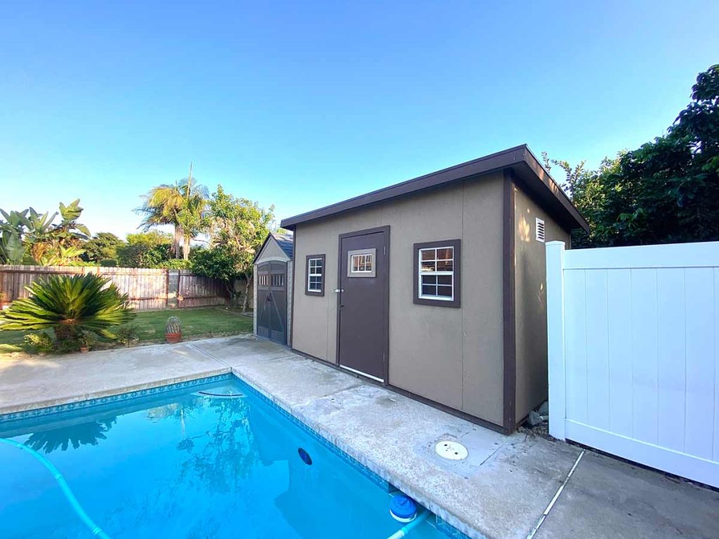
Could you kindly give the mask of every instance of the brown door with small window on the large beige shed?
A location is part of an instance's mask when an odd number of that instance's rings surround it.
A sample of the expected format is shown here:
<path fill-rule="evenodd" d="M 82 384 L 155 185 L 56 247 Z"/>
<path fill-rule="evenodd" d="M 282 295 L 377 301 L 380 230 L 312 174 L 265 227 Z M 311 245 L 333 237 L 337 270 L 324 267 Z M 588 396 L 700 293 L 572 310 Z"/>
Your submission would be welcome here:
<path fill-rule="evenodd" d="M 340 367 L 387 380 L 389 230 L 339 239 Z"/>

